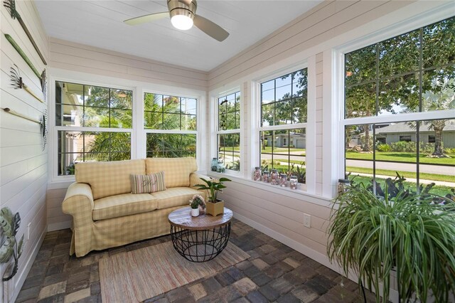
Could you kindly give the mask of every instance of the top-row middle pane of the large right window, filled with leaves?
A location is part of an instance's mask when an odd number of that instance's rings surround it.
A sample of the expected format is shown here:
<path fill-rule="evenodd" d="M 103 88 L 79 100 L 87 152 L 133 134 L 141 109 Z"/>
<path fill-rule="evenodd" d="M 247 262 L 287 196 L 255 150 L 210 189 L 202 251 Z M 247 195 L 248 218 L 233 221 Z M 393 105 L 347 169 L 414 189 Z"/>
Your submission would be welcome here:
<path fill-rule="evenodd" d="M 419 30 L 382 41 L 378 47 L 380 78 L 419 69 Z"/>

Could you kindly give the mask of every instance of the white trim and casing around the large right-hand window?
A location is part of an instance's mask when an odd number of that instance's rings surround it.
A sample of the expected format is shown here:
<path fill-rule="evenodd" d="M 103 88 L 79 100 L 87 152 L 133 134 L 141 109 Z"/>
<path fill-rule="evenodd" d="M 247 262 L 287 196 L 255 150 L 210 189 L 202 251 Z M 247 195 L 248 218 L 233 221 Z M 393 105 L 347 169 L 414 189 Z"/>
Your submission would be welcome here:
<path fill-rule="evenodd" d="M 418 4 L 416 4 L 418 5 Z M 353 41 L 324 52 L 323 75 L 324 85 L 331 90 L 324 90 L 324 121 L 332 121 L 328 133 L 334 134 L 338 140 L 331 140 L 332 136 L 324 136 L 324 146 L 330 146 L 333 150 L 331 159 L 325 159 L 324 163 L 331 166 L 324 169 L 324 190 L 328 198 L 336 196 L 338 179 L 344 178 L 344 127 L 352 124 L 380 124 L 383 122 L 422 121 L 427 119 L 454 119 L 454 110 L 441 110 L 436 112 L 412 112 L 400 115 L 381 115 L 373 117 L 344 118 L 344 54 L 370 46 L 380 41 L 399 36 L 402 33 L 414 31 L 417 28 L 427 26 L 437 21 L 454 16 L 453 3 L 447 3 L 421 14 L 397 23 L 391 22 L 389 26 L 366 35 L 358 35 Z M 367 31 L 367 29 L 365 29 Z M 330 78 L 326 78 L 330 75 Z M 326 82 L 329 81 L 329 82 Z M 330 84 L 330 85 L 328 85 Z M 324 87 L 325 88 L 325 87 Z M 331 93 L 330 93 L 331 92 Z M 324 129 L 324 134 L 326 129 Z M 330 140 L 330 141 L 329 141 Z M 329 162 L 326 162 L 329 161 Z"/>

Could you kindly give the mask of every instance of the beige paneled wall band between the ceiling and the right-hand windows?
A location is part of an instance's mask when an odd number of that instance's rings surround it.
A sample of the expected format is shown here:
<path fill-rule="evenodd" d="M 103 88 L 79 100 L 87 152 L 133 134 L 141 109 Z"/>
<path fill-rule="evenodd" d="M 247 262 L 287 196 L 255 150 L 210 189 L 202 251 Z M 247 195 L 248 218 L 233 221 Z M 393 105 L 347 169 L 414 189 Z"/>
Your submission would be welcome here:
<path fill-rule="evenodd" d="M 211 70 L 208 76 L 210 90 L 317 46 L 411 2 L 324 1 Z"/>

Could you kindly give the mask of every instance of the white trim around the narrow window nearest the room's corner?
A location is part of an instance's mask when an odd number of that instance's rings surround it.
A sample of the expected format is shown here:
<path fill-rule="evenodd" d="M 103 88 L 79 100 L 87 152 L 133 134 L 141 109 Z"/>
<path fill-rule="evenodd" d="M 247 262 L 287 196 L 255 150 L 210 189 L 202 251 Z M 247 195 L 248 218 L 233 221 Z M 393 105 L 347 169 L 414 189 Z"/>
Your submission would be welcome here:
<path fill-rule="evenodd" d="M 213 158 L 215 158 L 212 155 L 215 155 L 216 158 L 218 159 L 218 134 L 240 134 L 240 171 L 232 171 L 231 169 L 226 169 L 225 173 L 226 175 L 231 175 L 231 176 L 237 176 L 237 177 L 244 177 L 244 171 L 245 167 L 247 165 L 246 159 L 246 154 L 244 151 L 245 147 L 245 139 L 244 139 L 244 92 L 241 90 L 241 85 L 240 84 L 233 84 L 233 85 L 226 85 L 228 87 L 231 87 L 228 90 L 225 90 L 224 87 L 219 90 L 214 90 L 210 92 L 211 96 L 211 102 L 210 102 L 210 112 L 212 113 L 211 119 L 210 119 L 210 125 L 212 125 L 211 129 L 212 131 L 210 132 L 210 159 L 208 161 L 211 161 Z M 220 97 L 224 97 L 230 94 L 233 94 L 235 92 L 240 92 L 240 125 L 238 129 L 226 129 L 226 130 L 219 130 L 218 125 L 219 125 L 219 104 L 218 104 L 218 99 Z M 210 168 L 210 165 L 207 166 Z M 211 171 L 210 169 L 207 169 L 208 171 Z"/>

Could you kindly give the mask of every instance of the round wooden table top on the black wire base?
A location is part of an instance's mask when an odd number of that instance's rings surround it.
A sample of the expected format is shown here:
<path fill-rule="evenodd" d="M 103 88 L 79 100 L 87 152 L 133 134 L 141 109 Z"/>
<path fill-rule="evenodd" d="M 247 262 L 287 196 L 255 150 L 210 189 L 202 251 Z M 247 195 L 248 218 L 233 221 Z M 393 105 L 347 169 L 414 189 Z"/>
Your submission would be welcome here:
<path fill-rule="evenodd" d="M 179 208 L 172 213 L 169 213 L 168 220 L 174 226 L 185 228 L 188 230 L 205 230 L 217 228 L 226 225 L 232 219 L 232 211 L 225 208 L 223 215 L 210 216 L 205 213 L 197 217 L 191 216 L 191 207 Z"/>

